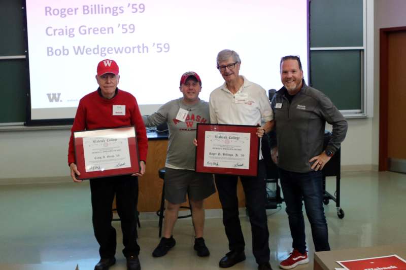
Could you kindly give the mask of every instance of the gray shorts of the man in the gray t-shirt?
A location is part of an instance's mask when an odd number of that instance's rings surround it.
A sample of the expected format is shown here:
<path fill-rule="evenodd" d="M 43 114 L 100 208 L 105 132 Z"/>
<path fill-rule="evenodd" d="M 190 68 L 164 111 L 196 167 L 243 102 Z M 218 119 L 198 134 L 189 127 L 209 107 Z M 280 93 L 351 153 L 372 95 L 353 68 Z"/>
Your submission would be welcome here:
<path fill-rule="evenodd" d="M 201 201 L 216 192 L 213 174 L 165 168 L 164 181 L 165 199 L 173 204 L 186 202 L 186 194 L 192 201 Z"/>

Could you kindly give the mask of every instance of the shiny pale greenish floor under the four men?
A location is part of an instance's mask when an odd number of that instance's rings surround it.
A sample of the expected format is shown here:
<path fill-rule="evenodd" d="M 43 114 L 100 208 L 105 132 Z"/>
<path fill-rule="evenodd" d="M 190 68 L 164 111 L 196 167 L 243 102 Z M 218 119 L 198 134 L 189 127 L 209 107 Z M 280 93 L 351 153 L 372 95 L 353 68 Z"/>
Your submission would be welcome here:
<path fill-rule="evenodd" d="M 335 190 L 335 178 L 327 179 L 327 190 Z M 332 249 L 403 244 L 406 246 L 406 174 L 393 172 L 344 172 L 341 183 L 341 207 L 345 217 L 339 219 L 335 203 L 325 206 Z M 221 214 L 210 211 L 210 216 Z M 291 238 L 284 204 L 267 210 L 270 232 L 270 263 L 278 262 L 291 251 Z M 256 269 L 252 255 L 251 228 L 245 211 L 241 211 L 246 239 L 244 262 L 230 269 Z M 164 257 L 153 258 L 158 244 L 158 222 L 143 220 L 139 229 L 140 260 L 143 269 L 219 269 L 219 259 L 228 251 L 221 218 L 207 218 L 206 243 L 211 251 L 200 258 L 193 250 L 191 220 L 179 220 L 174 237 L 177 245 Z M 151 216 L 151 215 L 149 215 Z M 0 185 L 0 269 L 93 269 L 98 261 L 98 245 L 91 226 L 88 183 Z M 117 263 L 111 270 L 125 269 L 121 253 L 119 221 Z M 313 269 L 314 246 L 310 225 L 306 223 L 310 263 L 295 269 Z"/>

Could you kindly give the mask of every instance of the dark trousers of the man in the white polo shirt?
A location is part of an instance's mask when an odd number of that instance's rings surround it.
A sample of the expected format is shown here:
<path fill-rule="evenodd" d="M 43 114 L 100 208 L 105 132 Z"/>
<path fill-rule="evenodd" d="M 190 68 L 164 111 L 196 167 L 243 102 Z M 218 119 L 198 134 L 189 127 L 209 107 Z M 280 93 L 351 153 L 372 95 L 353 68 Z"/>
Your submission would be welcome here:
<path fill-rule="evenodd" d="M 258 163 L 258 176 L 240 176 L 245 194 L 245 204 L 251 222 L 252 253 L 258 264 L 269 261 L 269 232 L 266 217 L 266 180 L 265 166 Z M 231 251 L 244 251 L 245 241 L 241 230 L 238 210 L 237 182 L 238 176 L 215 174 L 217 190 L 223 209 L 223 224 Z"/>

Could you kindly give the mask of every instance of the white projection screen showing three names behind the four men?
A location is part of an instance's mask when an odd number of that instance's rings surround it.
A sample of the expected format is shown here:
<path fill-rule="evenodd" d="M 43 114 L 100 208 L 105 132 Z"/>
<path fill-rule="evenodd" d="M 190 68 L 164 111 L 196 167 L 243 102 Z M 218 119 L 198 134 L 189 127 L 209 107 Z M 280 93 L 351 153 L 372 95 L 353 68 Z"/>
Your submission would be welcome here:
<path fill-rule="evenodd" d="M 142 114 L 181 96 L 182 73 L 202 80 L 200 98 L 223 83 L 217 53 L 239 53 L 240 74 L 279 89 L 280 58 L 298 55 L 308 78 L 307 0 L 26 0 L 31 120 L 72 119 L 97 89 L 96 65 L 120 67 L 118 87 Z"/>

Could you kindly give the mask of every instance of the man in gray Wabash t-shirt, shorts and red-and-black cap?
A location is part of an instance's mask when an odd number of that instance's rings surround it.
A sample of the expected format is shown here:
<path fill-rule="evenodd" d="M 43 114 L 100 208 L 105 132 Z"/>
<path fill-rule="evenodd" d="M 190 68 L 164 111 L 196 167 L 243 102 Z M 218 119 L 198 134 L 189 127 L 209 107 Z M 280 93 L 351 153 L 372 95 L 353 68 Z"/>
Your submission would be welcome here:
<path fill-rule="evenodd" d="M 195 146 L 192 141 L 197 123 L 209 123 L 209 103 L 199 99 L 201 80 L 195 72 L 186 72 L 180 81 L 183 97 L 162 105 L 157 112 L 144 117 L 147 127 L 167 123 L 169 129 L 168 149 L 165 163 L 165 219 L 163 237 L 152 253 L 154 257 L 164 256 L 176 242 L 172 236 L 178 211 L 188 195 L 192 207 L 195 231 L 194 249 L 198 256 L 209 256 L 203 239 L 205 210 L 203 200 L 214 194 L 212 174 L 194 171 Z"/>

